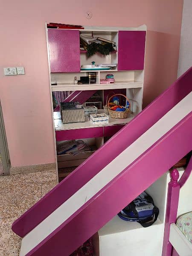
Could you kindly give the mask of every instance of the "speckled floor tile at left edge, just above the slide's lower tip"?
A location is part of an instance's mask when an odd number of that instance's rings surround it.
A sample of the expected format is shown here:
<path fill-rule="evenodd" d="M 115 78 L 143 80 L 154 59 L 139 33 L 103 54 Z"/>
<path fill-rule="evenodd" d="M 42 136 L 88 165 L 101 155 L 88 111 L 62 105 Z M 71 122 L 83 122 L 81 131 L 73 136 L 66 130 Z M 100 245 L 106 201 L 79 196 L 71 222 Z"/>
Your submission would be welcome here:
<path fill-rule="evenodd" d="M 7 194 L 3 193 L 2 204 L 0 204 L 0 218 L 14 217 L 26 212 L 41 199 L 41 185 L 42 183 L 39 182 L 8 186 Z"/>

